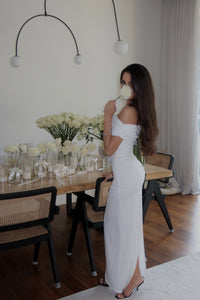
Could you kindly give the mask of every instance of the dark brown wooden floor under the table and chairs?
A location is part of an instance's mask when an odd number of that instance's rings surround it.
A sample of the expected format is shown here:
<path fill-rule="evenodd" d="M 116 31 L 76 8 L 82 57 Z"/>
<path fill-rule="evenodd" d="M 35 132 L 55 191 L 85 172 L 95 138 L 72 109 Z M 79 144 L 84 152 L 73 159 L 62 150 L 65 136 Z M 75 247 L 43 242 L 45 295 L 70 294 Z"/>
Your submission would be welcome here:
<path fill-rule="evenodd" d="M 168 196 L 166 205 L 175 232 L 169 232 L 156 201 L 152 201 L 144 222 L 147 267 L 200 251 L 200 196 Z M 33 246 L 0 252 L 0 300 L 51 300 L 97 285 L 105 268 L 102 230 L 91 230 L 98 277 L 90 276 L 90 266 L 81 225 L 72 256 L 66 256 L 71 228 L 65 206 L 52 223 L 54 247 L 61 288 L 54 287 L 47 245 L 43 243 L 39 264 L 33 266 Z M 128 245 L 127 245 L 128 247 Z"/>

